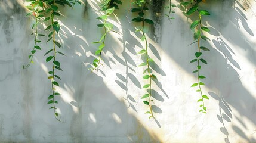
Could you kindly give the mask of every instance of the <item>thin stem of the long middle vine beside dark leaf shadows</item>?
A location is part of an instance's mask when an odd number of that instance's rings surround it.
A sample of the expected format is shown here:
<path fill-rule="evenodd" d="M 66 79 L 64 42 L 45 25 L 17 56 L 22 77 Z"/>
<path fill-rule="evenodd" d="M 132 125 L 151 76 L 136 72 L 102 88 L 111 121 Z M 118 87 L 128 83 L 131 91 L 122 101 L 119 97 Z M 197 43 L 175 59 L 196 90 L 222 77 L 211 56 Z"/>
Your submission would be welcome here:
<path fill-rule="evenodd" d="M 142 7 L 141 9 L 141 12 L 143 13 L 143 8 L 145 7 L 146 3 L 144 4 L 144 6 Z M 144 16 L 142 17 L 143 18 L 143 22 L 142 22 L 142 34 L 145 38 L 145 43 L 146 43 L 146 59 L 147 59 L 147 72 L 149 73 L 149 108 L 150 108 L 150 113 L 153 117 L 153 119 L 155 119 L 154 115 L 153 115 L 153 111 L 152 111 L 152 105 L 151 105 L 151 93 L 152 93 L 152 74 L 150 73 L 150 67 L 149 67 L 149 54 L 148 54 L 148 46 L 147 46 L 147 38 L 146 38 L 146 35 L 144 33 Z"/>

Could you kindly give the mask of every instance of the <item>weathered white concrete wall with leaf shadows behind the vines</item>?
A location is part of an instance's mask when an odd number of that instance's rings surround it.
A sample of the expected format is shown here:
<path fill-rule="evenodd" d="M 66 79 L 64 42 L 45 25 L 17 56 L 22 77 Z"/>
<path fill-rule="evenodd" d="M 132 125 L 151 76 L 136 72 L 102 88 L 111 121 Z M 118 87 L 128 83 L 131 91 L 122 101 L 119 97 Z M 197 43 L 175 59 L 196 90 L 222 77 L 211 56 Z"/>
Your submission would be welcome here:
<path fill-rule="evenodd" d="M 57 57 L 64 70 L 58 71 L 57 107 L 65 123 L 55 120 L 47 105 L 51 65 L 43 55 L 51 44 L 42 42 L 35 63 L 22 69 L 33 47 L 33 20 L 25 17 L 24 5 L 22 0 L 0 1 L 0 142 L 256 142 L 255 1 L 201 5 L 211 13 L 203 17 L 211 41 L 202 41 L 211 49 L 203 55 L 208 64 L 202 65 L 203 92 L 210 97 L 207 114 L 198 112 L 199 95 L 190 88 L 196 82 L 196 66 L 189 64 L 196 45 L 187 46 L 193 42 L 191 20 L 178 8 L 171 21 L 151 14 L 155 26 L 146 32 L 159 81 L 153 85 L 156 120 L 148 120 L 140 100 L 147 81 L 136 53 L 143 43 L 134 33 L 139 25 L 131 22 L 135 15 L 128 13 L 129 2 L 116 10 L 118 18 L 112 16 L 121 34 L 107 35 L 103 66 L 93 73 L 88 69 L 97 45 L 91 42 L 102 34 L 95 25 L 100 23 L 98 7 L 88 1 L 73 10 L 63 8 L 58 39 L 67 56 Z"/>

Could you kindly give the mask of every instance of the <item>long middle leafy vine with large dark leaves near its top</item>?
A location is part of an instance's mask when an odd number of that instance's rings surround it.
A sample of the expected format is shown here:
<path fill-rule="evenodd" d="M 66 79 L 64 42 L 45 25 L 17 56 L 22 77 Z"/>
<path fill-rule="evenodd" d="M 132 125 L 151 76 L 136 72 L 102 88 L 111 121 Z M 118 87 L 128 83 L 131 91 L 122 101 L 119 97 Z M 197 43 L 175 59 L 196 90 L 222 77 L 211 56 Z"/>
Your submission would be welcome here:
<path fill-rule="evenodd" d="M 148 43 L 147 43 L 147 36 L 145 34 L 144 28 L 145 28 L 145 24 L 154 24 L 153 20 L 144 18 L 144 11 L 149 10 L 148 5 L 149 5 L 149 1 L 146 0 L 137 0 L 135 2 L 133 2 L 133 4 L 137 5 L 137 8 L 132 8 L 131 12 L 133 13 L 138 13 L 138 17 L 133 18 L 132 21 L 137 22 L 137 23 L 141 23 L 141 29 L 136 30 L 136 32 L 141 32 L 142 33 L 142 37 L 141 37 L 141 41 L 145 43 L 144 45 L 144 49 L 142 49 L 140 52 L 138 52 L 137 54 L 146 54 L 146 63 L 141 63 L 138 66 L 146 66 L 146 69 L 144 70 L 144 75 L 143 79 L 148 79 L 149 83 L 147 83 L 146 85 L 143 86 L 144 89 L 148 89 L 147 90 L 147 94 L 144 94 L 141 99 L 144 99 L 143 103 L 146 105 L 149 105 L 149 111 L 146 112 L 146 114 L 150 114 L 149 119 L 152 117 L 153 119 L 155 119 L 154 115 L 153 115 L 153 111 L 152 111 L 152 79 L 156 79 L 156 76 L 154 74 L 152 74 L 152 69 L 150 69 L 150 65 L 149 63 L 152 62 L 154 63 L 153 59 L 149 57 L 149 51 L 148 51 Z M 147 99 L 147 100 L 146 100 Z"/>

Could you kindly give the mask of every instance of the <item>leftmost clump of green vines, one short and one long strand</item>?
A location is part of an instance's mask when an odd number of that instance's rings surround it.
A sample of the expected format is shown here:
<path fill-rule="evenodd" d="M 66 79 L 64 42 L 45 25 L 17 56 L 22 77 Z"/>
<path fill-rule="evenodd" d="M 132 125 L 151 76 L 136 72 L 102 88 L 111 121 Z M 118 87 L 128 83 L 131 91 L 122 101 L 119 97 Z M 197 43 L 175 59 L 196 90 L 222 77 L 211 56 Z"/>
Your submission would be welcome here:
<path fill-rule="evenodd" d="M 56 108 L 56 104 L 58 104 L 58 101 L 55 100 L 55 96 L 60 95 L 60 93 L 55 91 L 56 90 L 55 86 L 60 86 L 59 83 L 57 82 L 57 79 L 61 80 L 60 76 L 58 76 L 56 74 L 56 70 L 60 70 L 60 71 L 63 71 L 63 70 L 60 67 L 60 62 L 56 60 L 56 57 L 57 57 L 57 54 L 60 54 L 60 55 L 64 55 L 64 54 L 62 52 L 58 51 L 57 47 L 56 47 L 56 46 L 58 46 L 58 48 L 61 47 L 60 43 L 56 41 L 56 36 L 57 36 L 58 32 L 60 31 L 60 24 L 58 23 L 58 21 L 55 21 L 54 16 L 59 17 L 61 15 L 60 12 L 58 11 L 58 5 L 62 5 L 62 6 L 68 5 L 69 7 L 72 7 L 71 4 L 75 5 L 76 2 L 78 4 L 81 4 L 81 3 L 76 0 L 75 1 L 70 1 L 70 0 L 69 1 L 66 1 L 66 0 L 62 0 L 62 1 L 59 1 L 59 0 L 27 0 L 27 2 L 30 2 L 30 5 L 27 8 L 29 8 L 29 10 L 32 11 L 27 15 L 35 16 L 35 24 L 33 24 L 33 26 L 32 26 L 32 29 L 33 29 L 33 27 L 35 27 L 35 45 L 32 50 L 32 55 L 29 56 L 30 63 L 32 63 L 32 58 L 33 58 L 33 54 L 35 54 L 35 49 L 41 50 L 41 48 L 38 45 L 36 45 L 36 43 L 41 42 L 37 39 L 37 36 L 45 36 L 42 34 L 38 34 L 38 29 L 37 29 L 38 20 L 41 20 L 41 18 L 44 18 L 43 21 L 45 23 L 47 21 L 50 21 L 50 22 L 46 23 L 47 27 L 45 28 L 45 31 L 49 30 L 47 42 L 51 41 L 53 44 L 52 49 L 50 49 L 49 51 L 47 51 L 45 53 L 45 55 L 48 55 L 50 53 L 52 54 L 46 58 L 46 62 L 48 63 L 50 61 L 53 61 L 52 70 L 48 72 L 50 74 L 50 76 L 48 76 L 48 79 L 51 80 L 51 92 L 52 93 L 51 93 L 51 95 L 48 96 L 47 104 L 51 104 L 50 109 L 54 110 L 55 119 L 57 119 L 58 121 L 61 121 L 60 117 L 58 117 L 58 112 L 57 112 L 57 108 Z M 26 67 L 29 67 L 30 63 Z"/>

